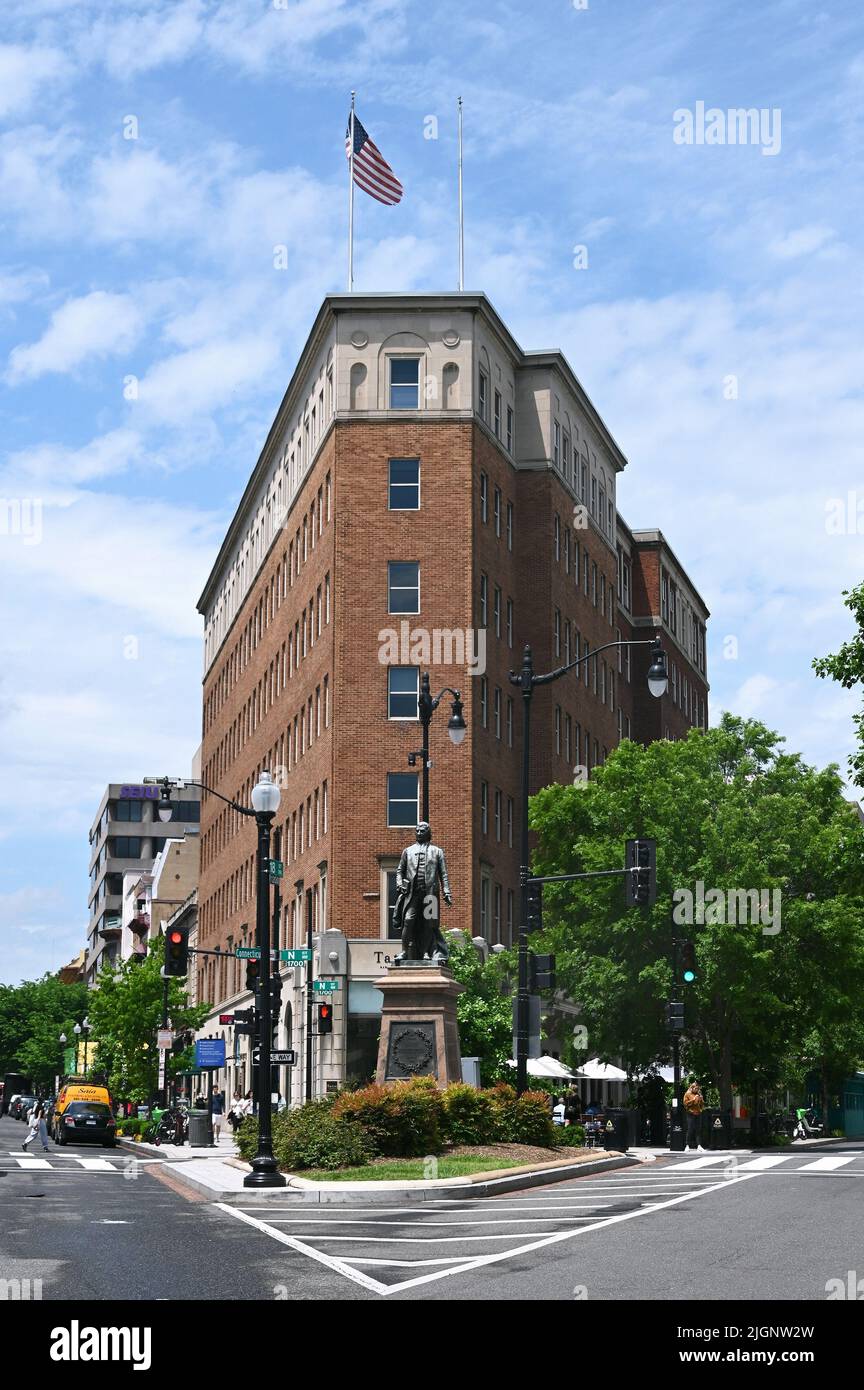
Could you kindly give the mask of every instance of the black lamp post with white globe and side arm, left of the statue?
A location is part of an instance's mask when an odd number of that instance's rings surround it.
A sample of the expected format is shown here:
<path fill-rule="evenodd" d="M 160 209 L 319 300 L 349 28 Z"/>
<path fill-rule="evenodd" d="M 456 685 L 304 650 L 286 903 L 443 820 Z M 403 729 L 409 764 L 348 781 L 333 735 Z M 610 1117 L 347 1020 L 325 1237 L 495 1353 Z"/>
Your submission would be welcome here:
<path fill-rule="evenodd" d="M 251 790 L 251 808 L 240 806 L 231 796 L 222 796 L 200 781 L 183 783 L 185 787 L 200 787 L 211 796 L 218 796 L 226 806 L 236 810 L 239 816 L 254 817 L 258 827 L 258 856 L 257 856 L 257 901 L 256 901 L 256 938 L 260 951 L 261 973 L 258 976 L 258 1023 L 260 1023 L 260 1054 L 258 1054 L 258 1150 L 251 1161 L 251 1173 L 243 1179 L 244 1187 L 285 1187 L 285 1177 L 276 1168 L 272 1140 L 272 1111 L 269 1098 L 269 1049 L 271 1049 L 271 942 L 269 942 L 269 835 L 272 819 L 279 809 L 281 792 L 268 771 L 263 771 Z M 171 806 L 171 781 L 168 777 L 161 783 L 161 799 L 158 806 L 160 820 L 171 820 L 174 809 Z"/>

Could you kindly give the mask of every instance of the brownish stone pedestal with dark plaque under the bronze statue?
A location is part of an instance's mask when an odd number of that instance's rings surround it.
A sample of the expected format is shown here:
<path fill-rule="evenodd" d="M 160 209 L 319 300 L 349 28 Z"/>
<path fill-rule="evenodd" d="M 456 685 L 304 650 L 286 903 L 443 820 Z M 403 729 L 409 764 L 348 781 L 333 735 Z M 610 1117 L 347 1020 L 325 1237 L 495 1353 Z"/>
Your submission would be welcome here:
<path fill-rule="evenodd" d="M 383 994 L 375 1080 L 433 1076 L 442 1087 L 461 1081 L 456 1001 L 464 986 L 447 967 L 431 960 L 393 965 L 375 988 Z"/>

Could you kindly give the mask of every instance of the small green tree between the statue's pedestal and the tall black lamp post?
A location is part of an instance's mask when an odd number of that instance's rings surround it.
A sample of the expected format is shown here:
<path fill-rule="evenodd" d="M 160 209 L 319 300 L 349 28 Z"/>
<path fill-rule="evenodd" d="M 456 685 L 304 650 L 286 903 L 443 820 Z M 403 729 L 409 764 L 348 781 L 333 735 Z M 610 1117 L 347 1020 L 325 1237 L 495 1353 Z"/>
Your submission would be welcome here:
<path fill-rule="evenodd" d="M 482 960 L 471 941 L 457 942 L 449 966 L 464 994 L 457 1001 L 458 1042 L 463 1056 L 478 1056 L 481 1080 L 490 1086 L 513 1080 L 507 1066 L 513 1055 L 513 997 L 507 984 L 514 955 L 501 954 Z"/>

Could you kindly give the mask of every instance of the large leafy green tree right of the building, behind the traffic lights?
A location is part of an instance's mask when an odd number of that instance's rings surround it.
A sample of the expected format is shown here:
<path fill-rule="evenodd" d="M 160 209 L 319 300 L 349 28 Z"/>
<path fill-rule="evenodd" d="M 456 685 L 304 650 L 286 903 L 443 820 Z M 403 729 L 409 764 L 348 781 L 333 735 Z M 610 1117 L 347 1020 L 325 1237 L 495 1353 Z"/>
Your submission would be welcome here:
<path fill-rule="evenodd" d="M 800 1081 L 840 1019 L 847 1041 L 831 1065 L 864 1054 L 864 827 L 836 769 L 807 767 L 782 742 L 725 714 L 679 742 L 624 742 L 588 784 L 532 798 L 535 872 L 608 869 L 626 838 L 657 841 L 651 909 L 626 909 L 620 878 L 550 884 L 543 945 L 590 1051 L 631 1072 L 668 1059 L 664 1004 L 683 991 L 688 1063 L 711 1074 L 724 1108 L 757 1068 L 760 1084 Z M 721 917 L 708 903 L 706 920 L 675 924 L 672 894 L 699 880 L 706 892 L 778 890 L 779 920 Z M 695 941 L 699 967 L 675 992 L 674 935 Z"/>

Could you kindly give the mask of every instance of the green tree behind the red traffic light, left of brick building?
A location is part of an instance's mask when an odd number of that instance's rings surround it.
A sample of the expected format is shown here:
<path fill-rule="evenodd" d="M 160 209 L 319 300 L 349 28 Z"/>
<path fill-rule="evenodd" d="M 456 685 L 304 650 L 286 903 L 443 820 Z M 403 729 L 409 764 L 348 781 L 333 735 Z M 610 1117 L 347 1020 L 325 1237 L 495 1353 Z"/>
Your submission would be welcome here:
<path fill-rule="evenodd" d="M 124 960 L 115 970 L 106 967 L 89 997 L 96 1066 L 111 1090 L 131 1101 L 150 1099 L 158 1087 L 156 1034 L 163 1020 L 163 962 L 164 938 L 157 937 L 143 960 Z M 189 1005 L 183 981 L 168 980 L 168 1016 L 175 1033 L 199 1029 L 207 1013 L 207 1004 Z M 183 1059 L 169 1056 L 168 1076 L 182 1065 Z"/>

